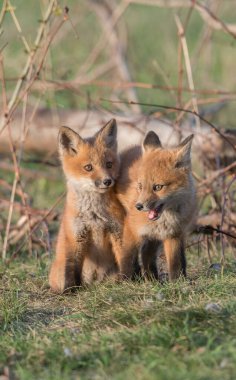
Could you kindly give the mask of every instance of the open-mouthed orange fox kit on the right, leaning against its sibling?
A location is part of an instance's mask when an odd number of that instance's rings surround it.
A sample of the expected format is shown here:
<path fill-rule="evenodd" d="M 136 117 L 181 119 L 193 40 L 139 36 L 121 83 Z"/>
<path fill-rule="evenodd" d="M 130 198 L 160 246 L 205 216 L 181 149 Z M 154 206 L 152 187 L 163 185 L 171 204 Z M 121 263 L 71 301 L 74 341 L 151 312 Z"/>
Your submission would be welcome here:
<path fill-rule="evenodd" d="M 191 174 L 191 142 L 187 137 L 173 149 L 163 149 L 150 131 L 143 148 L 121 155 L 117 195 L 126 209 L 121 272 L 130 277 L 141 249 L 145 272 L 157 276 L 156 251 L 163 243 L 169 279 L 186 276 L 185 236 L 195 214 Z M 160 243 L 159 243 L 160 244 Z"/>

